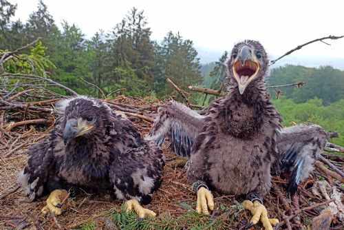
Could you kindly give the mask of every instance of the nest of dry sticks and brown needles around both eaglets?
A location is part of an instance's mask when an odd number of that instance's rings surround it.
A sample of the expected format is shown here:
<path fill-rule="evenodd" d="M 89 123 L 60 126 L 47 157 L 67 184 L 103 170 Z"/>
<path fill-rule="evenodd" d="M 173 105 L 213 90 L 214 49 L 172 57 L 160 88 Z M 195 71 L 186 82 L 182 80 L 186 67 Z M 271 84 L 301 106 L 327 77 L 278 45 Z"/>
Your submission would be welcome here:
<path fill-rule="evenodd" d="M 45 198 L 31 202 L 25 196 L 23 188 L 17 184 L 17 174 L 28 160 L 25 151 L 49 135 L 54 127 L 57 116 L 54 103 L 58 100 L 56 98 L 28 103 L 18 97 L 7 104 L 2 103 L 5 108 L 0 111 L 0 228 L 124 228 L 115 221 L 118 220 L 116 215 L 121 214 L 122 202 L 111 200 L 107 193 L 87 194 L 83 191 L 76 200 L 67 200 L 63 206 L 66 210 L 65 214 L 58 217 L 44 216 L 41 209 L 45 205 Z M 122 95 L 106 100 L 106 103 L 113 109 L 127 114 L 142 135 L 151 129 L 153 118 L 160 105 L 160 101 L 155 98 L 133 98 Z M 239 203 L 242 200 L 216 192 L 214 193 L 215 211 L 212 216 L 195 214 L 193 209 L 195 209 L 196 196 L 191 185 L 186 182 L 186 169 L 184 169 L 187 158 L 180 158 L 171 153 L 168 143 L 164 143 L 162 149 L 166 156 L 162 186 L 153 195 L 151 204 L 147 205 L 148 209 L 158 213 L 157 218 L 150 220 L 151 224 L 156 222 L 160 224 L 159 227 L 166 229 L 191 229 L 196 225 L 210 229 L 240 229 L 249 222 L 251 214 L 242 209 Z M 343 170 L 343 158 L 331 156 L 330 160 Z M 288 178 L 273 177 L 272 189 L 265 198 L 270 218 L 282 220 L 282 229 L 309 226 L 327 204 L 333 201 L 312 193 L 312 186 L 319 181 L 319 178 L 327 180 L 338 191 L 343 191 L 341 188 L 343 184 L 340 185 L 336 178 L 318 168 L 307 181 L 299 185 L 296 196 L 292 198 L 286 192 Z M 330 220 L 331 229 L 343 227 L 339 215 L 331 216 Z M 154 229 L 152 226 L 148 224 L 147 228 Z M 138 227 L 133 229 L 135 228 Z M 257 224 L 255 228 L 262 227 Z"/>

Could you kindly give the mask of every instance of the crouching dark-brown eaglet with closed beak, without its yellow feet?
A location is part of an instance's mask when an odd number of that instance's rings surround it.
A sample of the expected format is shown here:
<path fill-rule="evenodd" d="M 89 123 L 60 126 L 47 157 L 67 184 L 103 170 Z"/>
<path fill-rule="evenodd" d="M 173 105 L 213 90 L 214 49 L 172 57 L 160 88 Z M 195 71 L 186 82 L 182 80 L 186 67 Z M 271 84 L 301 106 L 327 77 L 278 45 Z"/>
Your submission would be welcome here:
<path fill-rule="evenodd" d="M 148 204 L 160 186 L 162 151 L 101 101 L 79 96 L 60 109 L 63 116 L 50 136 L 28 150 L 19 181 L 29 198 L 83 187 Z"/>

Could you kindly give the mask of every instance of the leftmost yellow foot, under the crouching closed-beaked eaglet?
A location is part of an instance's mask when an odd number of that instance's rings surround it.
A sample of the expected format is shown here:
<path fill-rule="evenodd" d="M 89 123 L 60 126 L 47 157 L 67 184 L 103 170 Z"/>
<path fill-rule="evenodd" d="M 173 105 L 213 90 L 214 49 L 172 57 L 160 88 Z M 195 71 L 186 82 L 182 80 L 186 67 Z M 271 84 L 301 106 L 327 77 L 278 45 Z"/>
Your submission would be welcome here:
<path fill-rule="evenodd" d="M 62 211 L 61 211 L 61 207 L 62 207 L 61 200 L 66 198 L 67 195 L 68 195 L 67 191 L 65 191 L 64 189 L 56 189 L 56 190 L 52 191 L 52 193 L 49 195 L 49 197 L 46 200 L 47 205 L 45 205 L 45 207 L 43 207 L 42 213 L 47 214 L 49 211 L 51 211 L 55 215 L 61 215 L 61 213 L 62 213 Z"/>

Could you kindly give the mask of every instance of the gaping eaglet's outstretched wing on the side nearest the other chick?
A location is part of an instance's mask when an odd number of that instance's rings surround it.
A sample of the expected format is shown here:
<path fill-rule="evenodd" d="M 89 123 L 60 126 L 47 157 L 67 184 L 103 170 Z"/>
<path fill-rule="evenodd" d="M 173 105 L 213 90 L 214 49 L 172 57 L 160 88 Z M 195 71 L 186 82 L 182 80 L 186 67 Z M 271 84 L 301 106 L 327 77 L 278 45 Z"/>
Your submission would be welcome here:
<path fill-rule="evenodd" d="M 146 140 L 162 145 L 167 137 L 171 149 L 179 156 L 190 156 L 193 143 L 203 127 L 205 116 L 176 101 L 168 101 L 159 108 L 151 132 Z"/>

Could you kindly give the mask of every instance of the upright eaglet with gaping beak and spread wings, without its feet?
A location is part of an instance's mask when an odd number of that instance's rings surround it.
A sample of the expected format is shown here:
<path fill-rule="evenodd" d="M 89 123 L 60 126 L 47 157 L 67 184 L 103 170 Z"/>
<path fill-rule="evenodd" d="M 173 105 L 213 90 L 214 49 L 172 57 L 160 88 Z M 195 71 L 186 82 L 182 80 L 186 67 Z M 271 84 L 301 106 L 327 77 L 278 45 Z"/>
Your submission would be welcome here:
<path fill-rule="evenodd" d="M 275 171 L 295 171 L 297 183 L 308 176 L 310 170 L 303 170 L 296 159 L 307 155 L 310 148 L 315 156 L 325 145 L 325 132 L 321 127 L 299 125 L 289 129 L 292 132 L 282 131 L 283 138 L 279 138 L 281 117 L 265 96 L 268 58 L 259 42 L 237 43 L 226 64 L 228 94 L 213 101 L 206 116 L 180 103 L 167 102 L 160 107 L 148 138 L 160 145 L 167 137 L 174 151 L 190 156 L 189 182 L 204 180 L 224 194 L 254 194 L 262 199 L 270 190 L 272 163 L 276 162 Z M 319 139 L 316 144 L 306 138 L 308 132 Z M 280 167 L 278 163 L 286 163 L 283 157 L 290 153 L 289 147 L 297 150 L 290 164 Z"/>

